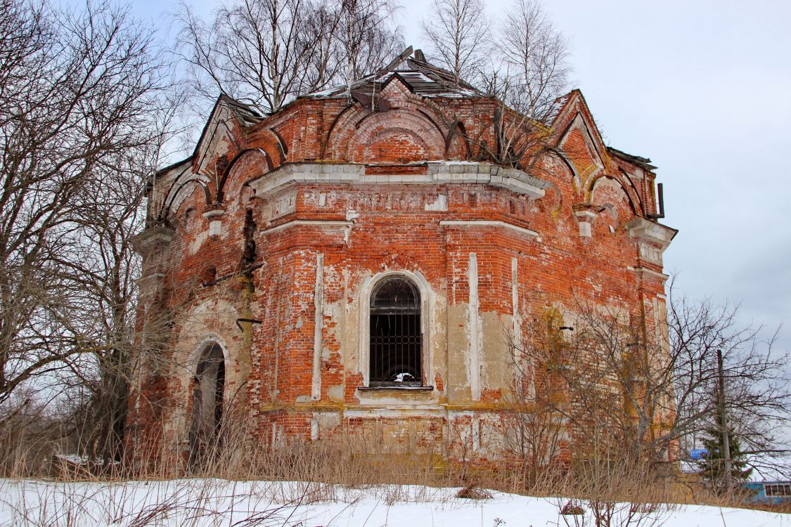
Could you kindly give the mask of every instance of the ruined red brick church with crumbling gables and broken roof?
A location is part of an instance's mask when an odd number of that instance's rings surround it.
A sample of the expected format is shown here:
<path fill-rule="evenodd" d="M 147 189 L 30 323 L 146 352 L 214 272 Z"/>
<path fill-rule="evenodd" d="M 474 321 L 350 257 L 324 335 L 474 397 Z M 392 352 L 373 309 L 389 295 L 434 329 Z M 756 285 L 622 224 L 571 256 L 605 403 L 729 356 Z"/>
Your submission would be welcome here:
<path fill-rule="evenodd" d="M 547 310 L 558 331 L 580 297 L 664 317 L 655 167 L 604 145 L 577 90 L 511 167 L 508 119 L 419 51 L 272 115 L 221 96 L 135 240 L 131 441 L 185 457 L 240 420 L 269 445 L 496 458 L 512 343 Z"/>

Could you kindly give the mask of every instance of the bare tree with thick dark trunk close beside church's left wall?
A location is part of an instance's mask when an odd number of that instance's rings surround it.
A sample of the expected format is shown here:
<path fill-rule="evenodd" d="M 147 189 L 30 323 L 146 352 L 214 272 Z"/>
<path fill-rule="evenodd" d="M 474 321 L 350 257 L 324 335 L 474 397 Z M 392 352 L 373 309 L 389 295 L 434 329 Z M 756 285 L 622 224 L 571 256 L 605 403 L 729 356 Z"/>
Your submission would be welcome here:
<path fill-rule="evenodd" d="M 135 280 L 141 262 L 133 240 L 145 224 L 146 179 L 157 158 L 156 144 L 123 153 L 85 186 L 76 197 L 71 250 L 60 259 L 70 290 L 64 325 L 83 350 L 70 361 L 70 376 L 89 401 L 78 423 L 78 446 L 105 466 L 122 459 L 129 386 L 138 366 Z"/>

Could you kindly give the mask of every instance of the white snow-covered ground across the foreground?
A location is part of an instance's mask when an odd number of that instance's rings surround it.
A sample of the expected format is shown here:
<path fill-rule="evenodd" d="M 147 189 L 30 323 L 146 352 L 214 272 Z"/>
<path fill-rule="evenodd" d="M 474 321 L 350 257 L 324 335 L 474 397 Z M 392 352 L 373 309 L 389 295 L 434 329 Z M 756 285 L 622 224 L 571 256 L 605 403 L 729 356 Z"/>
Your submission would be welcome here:
<path fill-rule="evenodd" d="M 492 492 L 491 499 L 459 499 L 457 488 L 381 485 L 349 488 L 304 482 L 226 480 L 55 483 L 0 480 L 0 525 L 142 525 L 248 527 L 583 527 L 591 511 L 562 515 L 566 499 Z M 634 514 L 615 507 L 611 525 L 679 527 L 791 527 L 791 515 L 713 506 L 662 506 Z M 633 511 L 631 523 L 626 515 Z"/>

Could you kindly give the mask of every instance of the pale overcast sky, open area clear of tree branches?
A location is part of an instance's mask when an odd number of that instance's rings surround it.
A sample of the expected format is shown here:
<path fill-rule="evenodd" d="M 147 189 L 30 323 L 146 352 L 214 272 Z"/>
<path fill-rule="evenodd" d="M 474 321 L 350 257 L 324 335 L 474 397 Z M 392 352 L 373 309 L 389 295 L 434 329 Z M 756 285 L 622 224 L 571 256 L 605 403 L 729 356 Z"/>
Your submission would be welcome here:
<path fill-rule="evenodd" d="M 401 0 L 407 44 L 430 0 Z M 201 0 L 210 13 L 216 0 Z M 488 2 L 496 16 L 508 2 Z M 791 2 L 545 0 L 569 38 L 581 88 L 607 145 L 645 156 L 664 183 L 665 253 L 677 287 L 741 303 L 744 322 L 791 348 Z M 176 0 L 138 0 L 167 26 Z"/>

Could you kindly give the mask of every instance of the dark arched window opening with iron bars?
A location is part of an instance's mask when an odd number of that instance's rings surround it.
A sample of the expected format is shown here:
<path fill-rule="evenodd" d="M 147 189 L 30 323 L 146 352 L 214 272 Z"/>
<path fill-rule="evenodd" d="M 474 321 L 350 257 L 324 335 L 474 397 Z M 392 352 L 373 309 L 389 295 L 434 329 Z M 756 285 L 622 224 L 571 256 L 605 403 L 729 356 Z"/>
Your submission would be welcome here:
<path fill-rule="evenodd" d="M 371 292 L 370 386 L 422 386 L 420 292 L 404 277 L 387 277 Z"/>

